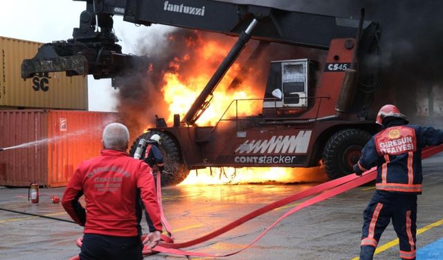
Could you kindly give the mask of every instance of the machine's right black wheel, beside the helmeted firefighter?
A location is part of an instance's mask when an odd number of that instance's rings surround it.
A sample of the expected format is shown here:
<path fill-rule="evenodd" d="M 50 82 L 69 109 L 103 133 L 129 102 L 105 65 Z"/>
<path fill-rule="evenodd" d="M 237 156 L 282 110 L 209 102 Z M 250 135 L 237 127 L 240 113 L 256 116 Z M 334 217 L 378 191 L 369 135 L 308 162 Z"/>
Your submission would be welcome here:
<path fill-rule="evenodd" d="M 327 141 L 323 150 L 323 163 L 327 177 L 334 180 L 353 173 L 352 166 L 359 161 L 361 149 L 371 135 L 360 129 L 343 129 Z"/>

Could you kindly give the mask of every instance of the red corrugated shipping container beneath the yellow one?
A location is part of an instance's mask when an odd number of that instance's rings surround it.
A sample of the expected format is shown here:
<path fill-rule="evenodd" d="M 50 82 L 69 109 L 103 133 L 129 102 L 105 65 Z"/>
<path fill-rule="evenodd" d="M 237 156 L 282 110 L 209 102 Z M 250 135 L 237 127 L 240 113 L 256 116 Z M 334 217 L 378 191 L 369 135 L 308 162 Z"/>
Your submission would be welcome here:
<path fill-rule="evenodd" d="M 0 110 L 0 186 L 66 186 L 80 162 L 100 155 L 102 130 L 116 113 Z"/>

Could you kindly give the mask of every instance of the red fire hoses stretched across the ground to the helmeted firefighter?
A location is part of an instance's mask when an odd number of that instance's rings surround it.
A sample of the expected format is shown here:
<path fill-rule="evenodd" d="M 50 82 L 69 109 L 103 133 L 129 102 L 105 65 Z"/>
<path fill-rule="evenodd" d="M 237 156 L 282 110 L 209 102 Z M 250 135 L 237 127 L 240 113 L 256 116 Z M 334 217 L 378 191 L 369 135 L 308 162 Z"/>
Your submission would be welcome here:
<path fill-rule="evenodd" d="M 426 159 L 428 157 L 431 157 L 437 153 L 440 153 L 443 151 L 443 145 L 440 146 L 433 146 L 424 148 L 422 150 L 422 159 Z M 253 243 L 259 241 L 269 230 L 271 230 L 275 225 L 277 225 L 281 220 L 284 218 L 287 218 L 287 216 L 290 216 L 297 211 L 300 211 L 301 209 L 304 209 L 305 207 L 309 207 L 311 205 L 314 205 L 318 202 L 321 202 L 323 200 L 327 200 L 328 198 L 332 198 L 334 196 L 338 196 L 341 193 L 344 193 L 346 191 L 349 191 L 350 189 L 354 189 L 356 187 L 359 187 L 365 183 L 371 182 L 375 180 L 377 177 L 377 167 L 371 168 L 369 171 L 366 171 L 361 176 L 350 174 L 346 175 L 344 177 L 338 178 L 336 180 L 331 180 L 329 182 L 325 182 L 323 184 L 316 185 L 314 187 L 311 187 L 310 189 L 307 189 L 305 191 L 300 191 L 298 193 L 294 193 L 291 196 L 288 196 L 286 198 L 282 198 L 281 200 L 272 202 L 269 205 L 266 205 L 264 207 L 261 207 L 260 209 L 256 209 L 255 211 L 246 214 L 245 216 L 242 216 L 241 218 L 233 221 L 232 223 L 229 223 L 228 225 L 221 227 L 213 232 L 210 232 L 209 234 L 206 234 L 205 236 L 201 236 L 197 239 L 193 239 L 191 241 L 183 242 L 183 243 L 173 243 L 174 239 L 173 237 L 168 237 L 162 235 L 162 240 L 165 241 L 164 243 L 160 243 L 152 250 L 149 250 L 146 246 L 143 248 L 143 255 L 152 254 L 153 252 L 163 252 L 167 254 L 177 254 L 177 255 L 183 255 L 183 256 L 196 256 L 196 257 L 228 257 L 233 254 L 237 254 L 239 252 L 242 252 L 246 248 L 253 245 Z M 157 184 L 160 183 L 160 175 L 157 174 Z M 275 222 L 270 225 L 269 227 L 266 227 L 264 232 L 262 232 L 260 235 L 258 235 L 251 243 L 248 243 L 244 248 L 237 250 L 235 252 L 230 252 L 228 254 L 206 254 L 201 252 L 190 252 L 190 251 L 184 251 L 180 248 L 188 248 L 192 245 L 197 245 L 199 243 L 203 243 L 205 241 L 208 241 L 210 239 L 213 239 L 220 234 L 224 234 L 225 232 L 228 232 L 230 229 L 233 229 L 239 225 L 242 225 L 248 220 L 251 220 L 252 218 L 255 218 L 257 216 L 260 216 L 268 211 L 271 211 L 273 209 L 276 209 L 278 207 L 282 207 L 284 205 L 287 205 L 291 202 L 295 202 L 297 200 L 301 200 L 302 198 L 307 198 L 309 196 L 313 196 L 317 193 L 317 196 L 314 196 L 313 198 L 310 198 L 309 200 L 306 200 L 305 202 L 302 202 L 300 205 L 297 205 L 296 207 L 293 207 L 293 209 L 287 211 L 284 215 L 280 216 L 278 220 L 275 220 Z M 159 196 L 159 201 L 161 201 L 161 188 L 160 186 L 157 186 L 157 194 Z M 160 202 L 161 203 L 161 202 Z M 163 214 L 163 208 L 161 207 L 161 219 L 163 222 L 163 225 L 165 225 L 165 229 L 167 232 L 172 236 L 170 225 L 168 221 L 165 219 Z M 142 239 L 144 239 L 142 237 Z M 81 247 L 82 245 L 82 239 L 77 240 L 77 245 Z M 78 259 L 78 257 L 73 257 L 71 260 Z"/>

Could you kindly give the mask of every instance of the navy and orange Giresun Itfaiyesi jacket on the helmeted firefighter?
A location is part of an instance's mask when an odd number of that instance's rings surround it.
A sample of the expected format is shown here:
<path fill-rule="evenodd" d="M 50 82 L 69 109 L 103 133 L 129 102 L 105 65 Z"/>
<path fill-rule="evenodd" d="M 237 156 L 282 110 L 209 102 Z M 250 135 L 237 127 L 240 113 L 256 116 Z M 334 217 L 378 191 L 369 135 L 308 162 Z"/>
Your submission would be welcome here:
<path fill-rule="evenodd" d="M 361 151 L 359 169 L 377 166 L 376 188 L 422 193 L 422 148 L 443 143 L 443 131 L 417 125 L 394 125 L 378 132 Z"/>

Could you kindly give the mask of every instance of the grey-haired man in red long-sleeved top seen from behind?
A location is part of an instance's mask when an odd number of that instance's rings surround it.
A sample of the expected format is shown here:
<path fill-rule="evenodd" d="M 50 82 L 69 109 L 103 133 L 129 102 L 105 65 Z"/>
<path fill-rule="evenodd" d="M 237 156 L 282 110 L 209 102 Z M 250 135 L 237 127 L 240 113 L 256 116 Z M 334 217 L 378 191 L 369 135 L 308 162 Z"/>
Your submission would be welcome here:
<path fill-rule="evenodd" d="M 84 226 L 80 259 L 143 259 L 143 244 L 154 248 L 162 231 L 160 209 L 150 166 L 126 153 L 129 132 L 111 123 L 103 130 L 99 157 L 78 166 L 64 191 L 62 205 Z M 84 195 L 87 211 L 80 205 Z M 141 207 L 152 218 L 154 231 L 141 241 Z"/>

